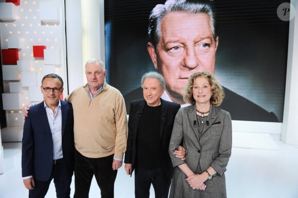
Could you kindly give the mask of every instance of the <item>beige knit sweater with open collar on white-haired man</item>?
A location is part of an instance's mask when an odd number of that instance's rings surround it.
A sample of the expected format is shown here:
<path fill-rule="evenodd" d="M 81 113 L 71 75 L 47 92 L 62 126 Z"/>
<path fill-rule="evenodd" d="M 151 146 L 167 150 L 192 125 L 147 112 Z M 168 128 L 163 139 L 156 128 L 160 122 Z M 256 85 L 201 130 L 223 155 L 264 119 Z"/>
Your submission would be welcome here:
<path fill-rule="evenodd" d="M 127 116 L 120 91 L 106 82 L 92 100 L 87 84 L 65 98 L 73 106 L 74 146 L 84 156 L 123 159 L 126 151 Z"/>

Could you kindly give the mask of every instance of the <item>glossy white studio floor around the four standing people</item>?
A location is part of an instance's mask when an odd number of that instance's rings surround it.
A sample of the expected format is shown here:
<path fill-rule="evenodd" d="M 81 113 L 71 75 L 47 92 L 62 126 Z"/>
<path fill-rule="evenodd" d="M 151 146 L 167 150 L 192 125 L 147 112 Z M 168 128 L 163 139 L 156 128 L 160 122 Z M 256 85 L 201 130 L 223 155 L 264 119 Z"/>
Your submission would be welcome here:
<path fill-rule="evenodd" d="M 3 143 L 3 147 L 4 174 L 0 174 L 0 197 L 28 197 L 21 174 L 21 143 Z M 270 135 L 268 139 L 266 135 L 233 133 L 232 156 L 226 172 L 228 197 L 297 198 L 297 168 L 298 147 L 273 141 Z M 71 197 L 73 189 L 72 183 Z M 53 183 L 46 197 L 56 197 Z M 95 179 L 92 180 L 89 197 L 100 197 Z M 134 177 L 126 175 L 122 166 L 115 183 L 115 198 L 132 197 Z M 153 189 L 150 197 L 154 197 Z"/>

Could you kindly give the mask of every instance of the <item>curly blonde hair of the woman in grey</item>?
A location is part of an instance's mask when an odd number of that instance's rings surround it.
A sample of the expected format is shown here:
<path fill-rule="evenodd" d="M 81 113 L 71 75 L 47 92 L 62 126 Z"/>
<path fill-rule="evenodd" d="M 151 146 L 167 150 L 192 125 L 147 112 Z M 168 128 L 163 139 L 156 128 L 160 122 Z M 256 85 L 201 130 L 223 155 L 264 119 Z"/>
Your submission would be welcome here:
<path fill-rule="evenodd" d="M 207 78 L 207 80 L 211 86 L 211 91 L 212 91 L 212 96 L 210 98 L 210 102 L 213 106 L 218 107 L 224 100 L 225 92 L 224 92 L 224 89 L 222 88 L 222 86 L 220 85 L 220 83 L 215 78 L 215 76 L 209 72 L 206 72 L 206 71 L 193 73 L 189 77 L 189 81 L 185 85 L 185 89 L 184 89 L 184 95 L 183 95 L 184 102 L 190 103 L 192 105 L 194 105 L 196 103 L 196 101 L 193 97 L 193 86 L 195 83 L 195 79 L 197 77 Z"/>

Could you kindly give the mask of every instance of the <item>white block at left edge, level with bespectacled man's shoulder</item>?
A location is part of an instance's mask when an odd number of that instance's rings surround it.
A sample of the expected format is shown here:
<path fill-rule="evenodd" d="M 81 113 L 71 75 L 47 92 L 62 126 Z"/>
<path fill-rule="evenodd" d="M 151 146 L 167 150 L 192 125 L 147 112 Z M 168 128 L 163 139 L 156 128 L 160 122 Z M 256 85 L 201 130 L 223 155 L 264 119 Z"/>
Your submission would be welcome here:
<path fill-rule="evenodd" d="M 19 110 L 23 109 L 21 101 L 21 93 L 3 93 L 3 109 L 4 110 Z"/>

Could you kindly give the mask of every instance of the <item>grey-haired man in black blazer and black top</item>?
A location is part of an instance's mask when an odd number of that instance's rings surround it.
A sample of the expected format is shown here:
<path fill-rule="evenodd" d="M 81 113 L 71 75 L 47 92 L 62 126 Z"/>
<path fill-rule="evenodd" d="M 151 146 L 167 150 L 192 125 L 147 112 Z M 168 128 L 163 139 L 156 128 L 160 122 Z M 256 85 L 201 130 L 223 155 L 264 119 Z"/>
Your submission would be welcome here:
<path fill-rule="evenodd" d="M 135 197 L 149 197 L 153 184 L 155 197 L 165 198 L 173 176 L 167 150 L 180 105 L 160 98 L 165 89 L 161 74 L 145 73 L 141 83 L 144 99 L 133 101 L 129 111 L 125 170 L 130 175 L 135 170 Z"/>

